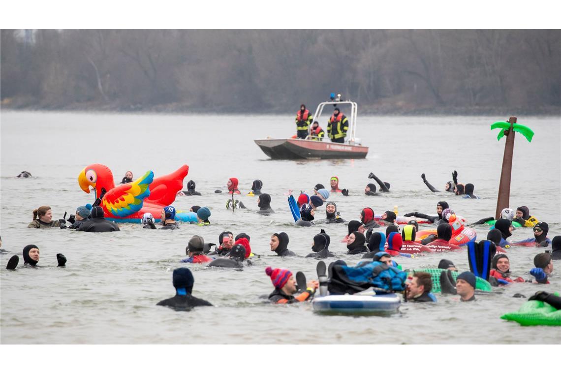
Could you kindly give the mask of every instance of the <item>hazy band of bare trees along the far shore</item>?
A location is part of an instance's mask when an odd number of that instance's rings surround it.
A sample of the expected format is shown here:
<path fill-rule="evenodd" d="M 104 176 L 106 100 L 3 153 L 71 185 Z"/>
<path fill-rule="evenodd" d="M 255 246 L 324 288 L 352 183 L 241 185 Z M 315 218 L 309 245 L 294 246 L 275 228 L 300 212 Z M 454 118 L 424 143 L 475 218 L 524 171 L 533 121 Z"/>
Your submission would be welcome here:
<path fill-rule="evenodd" d="M 3 108 L 561 107 L 560 30 L 2 30 Z"/>

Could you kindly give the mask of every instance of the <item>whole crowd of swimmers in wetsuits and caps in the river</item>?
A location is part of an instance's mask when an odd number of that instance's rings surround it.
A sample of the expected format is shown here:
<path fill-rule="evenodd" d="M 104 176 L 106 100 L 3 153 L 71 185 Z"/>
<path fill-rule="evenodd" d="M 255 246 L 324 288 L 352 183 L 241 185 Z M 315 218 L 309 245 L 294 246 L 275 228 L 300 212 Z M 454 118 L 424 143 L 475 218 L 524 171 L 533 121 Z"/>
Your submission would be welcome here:
<path fill-rule="evenodd" d="M 31 175 L 28 172 L 26 174 Z M 21 178 L 27 178 L 24 172 L 20 174 Z M 19 177 L 20 177 L 19 176 Z M 463 195 L 465 198 L 479 198 L 473 195 L 473 184 L 459 184 L 457 180 L 458 173 L 454 170 L 452 173 L 452 181 L 445 184 L 444 190 L 452 192 L 456 195 Z M 378 196 L 380 193 L 390 192 L 390 184 L 381 181 L 373 173 L 368 176 L 374 179 L 378 184 L 369 183 L 365 187 L 366 196 Z M 433 192 L 439 192 L 434 188 L 425 177 L 421 175 L 426 186 Z M 122 183 L 132 182 L 132 172 L 127 172 L 122 179 Z M 228 193 L 241 195 L 238 188 L 238 179 L 229 178 L 227 182 Z M 196 184 L 194 181 L 187 183 L 187 191 L 181 191 L 178 195 L 200 195 L 195 191 Z M 450 243 L 453 229 L 451 219 L 456 218 L 455 212 L 450 209 L 446 201 L 439 201 L 436 204 L 436 214 L 424 214 L 419 212 L 411 212 L 404 214 L 404 217 L 414 217 L 425 220 L 426 224 L 436 227 L 436 233 L 426 238 L 416 238 L 419 232 L 419 222 L 416 219 L 408 221 L 402 225 L 401 229 L 397 222 L 397 211 L 387 210 L 383 214 L 376 217 L 371 207 L 365 207 L 360 211 L 360 220 L 344 220 L 341 218 L 337 209 L 337 204 L 329 201 L 332 193 L 341 193 L 348 196 L 349 191 L 339 188 L 339 178 L 334 176 L 330 178 L 329 190 L 322 184 L 316 184 L 314 193 L 307 195 L 301 193 L 296 200 L 298 209 L 300 210 L 300 219 L 296 221 L 298 226 L 315 226 L 317 224 L 346 224 L 348 234 L 343 238 L 346 243 L 346 255 L 358 255 L 360 262 L 357 266 L 364 266 L 367 262 L 379 262 L 389 268 L 401 269 L 396 260 L 399 256 L 406 252 L 404 249 L 411 251 L 436 252 L 444 253 L 446 251 L 459 250 L 460 247 Z M 274 213 L 270 206 L 271 196 L 268 193 L 261 192 L 263 182 L 256 179 L 251 186 L 249 196 L 258 196 L 257 213 L 270 214 Z M 376 192 L 378 190 L 378 192 Z M 220 193 L 222 191 L 215 191 Z M 245 207 L 243 204 L 232 198 L 229 200 L 234 209 Z M 316 219 L 316 210 L 325 203 L 325 219 Z M 190 211 L 197 215 L 197 225 L 210 224 L 210 210 L 208 207 L 192 206 Z M 176 209 L 173 206 L 163 207 L 160 215 L 159 229 L 178 229 L 180 225 L 175 220 Z M 142 227 L 147 229 L 157 229 L 154 217 L 150 213 L 145 213 L 141 219 Z M 422 223 L 421 223 L 422 224 Z M 493 253 L 496 253 L 491 261 L 491 270 L 489 273 L 489 281 L 492 285 L 502 287 L 512 283 L 521 283 L 531 281 L 536 284 L 548 284 L 549 277 L 553 273 L 554 260 L 561 260 L 561 236 L 555 236 L 553 239 L 548 237 L 549 225 L 544 221 L 539 221 L 530 215 L 527 206 L 520 206 L 516 210 L 506 208 L 500 214 L 500 218 L 494 220 L 492 216 L 476 221 L 472 225 L 490 224 L 488 236 L 485 240 L 480 241 L 477 245 L 488 242 Z M 517 242 L 509 242 L 508 238 L 512 236 L 512 231 L 517 227 L 530 227 L 534 236 Z M 76 229 L 85 232 L 110 232 L 118 231 L 119 227 L 111 220 L 105 219 L 104 210 L 99 204 L 83 205 L 76 209 L 76 213 L 71 215 L 68 220 L 53 219 L 52 209 L 49 206 L 40 206 L 33 211 L 33 221 L 27 226 L 29 228 L 61 228 Z M 385 228 L 385 230 L 384 230 Z M 379 230 L 375 230 L 379 229 Z M 417 240 L 416 240 L 417 239 Z M 325 229 L 321 229 L 319 233 L 313 236 L 313 244 L 311 252 L 305 257 L 316 258 L 318 260 L 336 257 L 335 253 L 330 251 L 331 238 Z M 0 246 L 1 246 L 0 238 Z M 279 257 L 297 256 L 295 252 L 289 250 L 289 237 L 285 232 L 273 233 L 270 237 L 270 251 Z M 512 250 L 514 246 L 526 247 L 550 247 L 545 251 L 538 253 L 534 257 L 533 267 L 528 273 L 533 279 L 523 278 L 524 274 L 512 274 L 511 263 L 507 256 L 506 250 Z M 426 249 L 425 249 L 426 248 Z M 220 233 L 218 244 L 205 242 L 204 238 L 199 235 L 193 236 L 187 243 L 185 248 L 187 257 L 181 260 L 182 263 L 205 264 L 213 267 L 230 267 L 233 269 L 242 269 L 244 266 L 252 265 L 252 257 L 255 253 L 251 250 L 250 236 L 246 233 L 240 233 L 236 237 L 230 231 Z M 39 262 L 39 247 L 30 244 L 24 247 L 22 251 L 24 258 L 24 267 L 36 267 Z M 57 253 L 57 266 L 66 266 L 66 257 L 62 253 Z M 19 264 L 19 256 L 15 255 L 10 258 L 7 269 L 15 270 Z M 341 260 L 332 262 L 330 266 L 347 266 Z M 460 296 L 462 301 L 475 300 L 476 276 L 471 271 L 464 271 L 452 278 L 451 271 L 457 271 L 451 261 L 442 259 L 438 265 L 442 269 L 441 287 L 443 293 L 454 293 Z M 314 297 L 316 290 L 320 288 L 318 280 L 309 282 L 299 282 L 295 280 L 292 272 L 287 269 L 279 269 L 272 267 L 265 268 L 265 274 L 270 277 L 274 290 L 269 295 L 269 300 L 273 303 L 293 303 L 308 301 Z M 298 284 L 301 283 L 301 284 Z M 194 277 L 191 271 L 185 267 L 181 267 L 173 271 L 173 286 L 176 288 L 176 295 L 172 298 L 165 299 L 158 305 L 169 306 L 176 310 L 188 310 L 195 306 L 210 306 L 211 304 L 203 299 L 192 296 L 192 287 Z M 321 288 L 320 288 L 321 289 Z M 436 298 L 431 293 L 433 289 L 433 280 L 429 273 L 423 271 L 415 271 L 408 279 L 407 287 L 403 292 L 404 299 L 413 302 L 434 302 Z M 552 305 L 558 305 L 554 295 L 546 292 L 538 292 L 532 296 L 533 299 L 548 300 Z"/>

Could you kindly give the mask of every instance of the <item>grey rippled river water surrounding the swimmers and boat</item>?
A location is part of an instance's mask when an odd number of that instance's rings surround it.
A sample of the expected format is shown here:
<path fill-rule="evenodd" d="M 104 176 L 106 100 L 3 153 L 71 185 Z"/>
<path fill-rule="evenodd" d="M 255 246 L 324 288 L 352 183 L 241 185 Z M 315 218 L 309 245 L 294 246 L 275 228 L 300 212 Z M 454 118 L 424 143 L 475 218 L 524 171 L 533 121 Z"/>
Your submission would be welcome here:
<path fill-rule="evenodd" d="M 95 114 L 3 112 L 1 115 L 1 342 L 6 343 L 559 343 L 559 329 L 521 327 L 501 320 L 518 309 L 536 290 L 560 289 L 561 264 L 555 263 L 550 285 L 514 284 L 502 292 L 478 295 L 475 303 L 460 303 L 456 296 L 437 295 L 436 304 L 404 303 L 389 317 L 321 316 L 309 303 L 277 306 L 260 295 L 273 287 L 265 267 L 304 271 L 315 279 L 317 261 L 270 255 L 269 238 L 284 230 L 289 248 L 304 256 L 311 252 L 319 227 L 292 224 L 286 201 L 289 188 L 312 191 L 316 183 L 328 186 L 338 176 L 339 186 L 350 196 L 332 196 L 344 219 L 357 219 L 370 206 L 376 214 L 420 211 L 434 214 L 436 202 L 446 200 L 468 221 L 494 215 L 502 165 L 504 139 L 489 126 L 498 117 L 360 117 L 357 137 L 370 152 L 364 160 L 269 160 L 253 139 L 287 137 L 294 130 L 293 116 L 186 116 L 163 114 Z M 516 136 L 512 170 L 511 207 L 527 205 L 531 214 L 549 223 L 549 237 L 561 233 L 560 118 L 519 117 L 536 135 L 528 143 Z M 77 176 L 89 164 L 113 170 L 117 181 L 127 170 L 140 177 L 147 170 L 162 176 L 182 164 L 189 165 L 203 196 L 178 197 L 177 209 L 208 206 L 209 227 L 183 224 L 180 230 L 143 230 L 122 224 L 117 233 L 82 233 L 73 230 L 32 230 L 32 210 L 50 205 L 54 218 L 79 205 L 93 202 L 80 190 Z M 22 170 L 33 178 L 17 179 Z M 449 193 L 431 193 L 420 174 L 440 190 L 458 170 L 459 182 L 475 184 L 480 200 L 463 200 Z M 364 187 L 374 172 L 391 183 L 392 193 L 367 197 Z M 229 177 L 240 179 L 238 197 L 247 210 L 226 210 Z M 245 196 L 251 182 L 261 179 L 263 192 L 272 196 L 275 213 L 254 213 L 256 197 Z M 323 207 L 322 207 L 323 208 Z M 316 217 L 323 216 L 323 209 Z M 331 237 L 330 250 L 344 255 L 341 239 L 346 225 L 324 227 Z M 174 294 L 172 271 L 182 266 L 188 239 L 199 234 L 218 241 L 223 230 L 251 236 L 251 247 L 260 255 L 243 271 L 207 269 L 188 264 L 195 276 L 194 295 L 214 304 L 190 312 L 175 312 L 155 304 Z M 476 228 L 478 239 L 487 229 Z M 513 240 L 532 236 L 517 229 Z M 5 269 L 8 258 L 29 243 L 40 248 L 38 269 Z M 532 258 L 542 249 L 515 247 L 509 251 L 516 276 L 532 277 Z M 68 259 L 56 267 L 56 253 Z M 436 267 L 449 258 L 468 269 L 466 251 L 398 258 L 404 269 Z M 185 265 L 185 264 L 183 264 Z M 540 336 L 539 340 L 535 336 Z"/>

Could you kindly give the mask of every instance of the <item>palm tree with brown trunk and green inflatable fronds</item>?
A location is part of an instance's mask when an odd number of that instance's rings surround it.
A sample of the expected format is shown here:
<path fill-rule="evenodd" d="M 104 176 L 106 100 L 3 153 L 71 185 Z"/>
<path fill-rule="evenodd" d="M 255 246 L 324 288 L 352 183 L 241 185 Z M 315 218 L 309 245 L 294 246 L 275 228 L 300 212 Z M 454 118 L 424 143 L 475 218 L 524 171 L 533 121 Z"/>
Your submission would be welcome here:
<path fill-rule="evenodd" d="M 508 208 L 509 200 L 511 197 L 514 133 L 521 133 L 528 140 L 528 142 L 531 142 L 532 137 L 534 136 L 534 131 L 532 131 L 530 127 L 516 123 L 516 117 L 509 118 L 508 122 L 495 122 L 491 124 L 491 130 L 495 130 L 495 128 L 501 129 L 499 135 L 496 137 L 497 140 L 500 140 L 500 138 L 502 138 L 503 136 L 507 137 L 507 141 L 504 144 L 503 168 L 500 172 L 499 195 L 496 199 L 495 218 L 499 219 L 500 211 L 504 208 Z"/>

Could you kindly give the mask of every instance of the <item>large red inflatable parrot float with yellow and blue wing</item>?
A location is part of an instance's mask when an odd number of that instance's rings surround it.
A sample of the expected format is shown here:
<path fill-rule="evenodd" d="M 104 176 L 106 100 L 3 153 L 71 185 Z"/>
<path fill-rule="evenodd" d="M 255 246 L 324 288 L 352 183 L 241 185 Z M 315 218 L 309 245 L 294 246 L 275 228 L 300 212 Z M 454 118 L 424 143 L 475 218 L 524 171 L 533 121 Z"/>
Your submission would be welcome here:
<path fill-rule="evenodd" d="M 95 197 L 101 198 L 99 205 L 106 219 L 140 223 L 144 213 L 151 213 L 155 221 L 160 221 L 163 207 L 173 203 L 188 172 L 189 167 L 183 165 L 167 176 L 154 178 L 154 172 L 149 170 L 134 182 L 115 186 L 111 169 L 102 164 L 91 164 L 82 170 L 78 183 L 84 192 L 94 190 Z M 176 220 L 196 222 L 197 215 L 177 211 Z"/>

